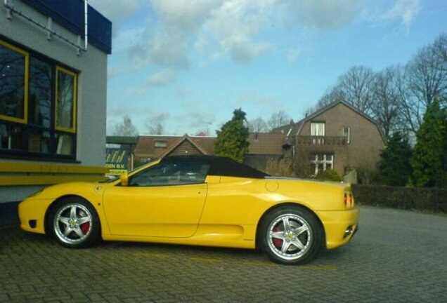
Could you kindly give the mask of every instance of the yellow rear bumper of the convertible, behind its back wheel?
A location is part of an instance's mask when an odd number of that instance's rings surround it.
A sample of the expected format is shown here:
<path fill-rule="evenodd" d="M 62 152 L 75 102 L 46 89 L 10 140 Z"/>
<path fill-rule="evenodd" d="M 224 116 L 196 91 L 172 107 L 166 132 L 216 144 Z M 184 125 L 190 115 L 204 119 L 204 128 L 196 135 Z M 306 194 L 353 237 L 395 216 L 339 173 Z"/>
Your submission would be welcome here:
<path fill-rule="evenodd" d="M 351 210 L 317 211 L 325 229 L 326 248 L 332 249 L 342 246 L 351 240 L 358 230 L 359 212 L 357 208 Z"/>

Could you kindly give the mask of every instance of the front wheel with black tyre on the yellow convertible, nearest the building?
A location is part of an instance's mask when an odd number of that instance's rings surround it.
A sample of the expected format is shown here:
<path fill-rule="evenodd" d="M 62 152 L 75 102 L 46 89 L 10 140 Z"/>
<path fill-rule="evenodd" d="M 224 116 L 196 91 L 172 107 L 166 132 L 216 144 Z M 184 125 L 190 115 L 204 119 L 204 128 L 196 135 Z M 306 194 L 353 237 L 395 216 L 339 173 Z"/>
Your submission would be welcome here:
<path fill-rule="evenodd" d="M 48 231 L 67 248 L 87 248 L 98 242 L 101 224 L 96 210 L 79 197 L 58 201 L 48 216 Z"/>

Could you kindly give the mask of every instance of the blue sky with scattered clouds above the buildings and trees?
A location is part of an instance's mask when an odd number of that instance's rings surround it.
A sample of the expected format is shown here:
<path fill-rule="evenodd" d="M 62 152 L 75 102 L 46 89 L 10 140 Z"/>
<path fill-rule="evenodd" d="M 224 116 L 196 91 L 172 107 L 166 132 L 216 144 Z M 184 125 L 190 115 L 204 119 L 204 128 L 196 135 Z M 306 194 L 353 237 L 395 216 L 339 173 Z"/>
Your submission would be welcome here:
<path fill-rule="evenodd" d="M 107 132 L 215 135 L 247 120 L 302 119 L 350 67 L 405 65 L 447 33 L 447 0 L 90 0 L 112 21 Z"/>

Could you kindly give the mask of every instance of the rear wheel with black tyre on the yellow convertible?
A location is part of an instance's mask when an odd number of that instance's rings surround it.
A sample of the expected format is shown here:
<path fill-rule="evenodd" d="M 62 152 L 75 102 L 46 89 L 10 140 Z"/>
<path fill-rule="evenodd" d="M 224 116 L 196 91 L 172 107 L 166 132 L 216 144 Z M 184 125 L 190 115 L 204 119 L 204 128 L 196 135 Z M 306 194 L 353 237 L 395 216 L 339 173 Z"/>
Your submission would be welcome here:
<path fill-rule="evenodd" d="M 273 261 L 304 264 L 322 247 L 323 231 L 315 215 L 299 206 L 281 206 L 264 217 L 259 240 Z"/>

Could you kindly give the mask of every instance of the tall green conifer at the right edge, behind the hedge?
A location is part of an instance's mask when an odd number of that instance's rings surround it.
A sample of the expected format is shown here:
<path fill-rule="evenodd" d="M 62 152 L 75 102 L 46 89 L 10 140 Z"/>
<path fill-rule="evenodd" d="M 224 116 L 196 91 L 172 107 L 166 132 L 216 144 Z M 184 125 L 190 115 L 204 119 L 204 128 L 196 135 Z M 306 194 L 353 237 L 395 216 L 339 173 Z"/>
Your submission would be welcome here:
<path fill-rule="evenodd" d="M 427 107 L 416 140 L 411 159 L 412 184 L 415 187 L 447 187 L 447 114 L 439 100 Z"/>

